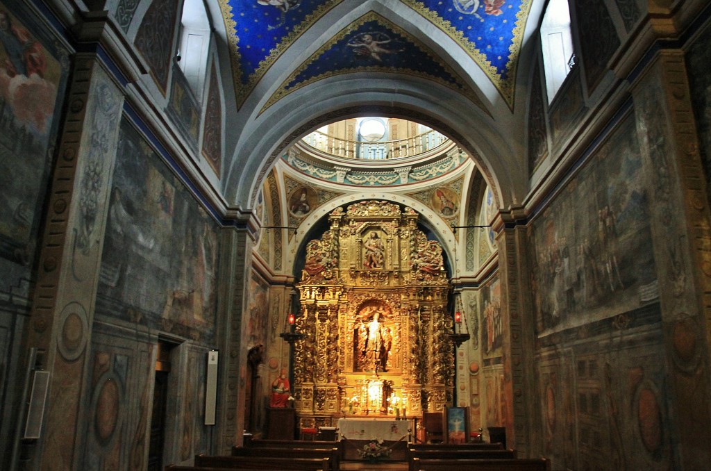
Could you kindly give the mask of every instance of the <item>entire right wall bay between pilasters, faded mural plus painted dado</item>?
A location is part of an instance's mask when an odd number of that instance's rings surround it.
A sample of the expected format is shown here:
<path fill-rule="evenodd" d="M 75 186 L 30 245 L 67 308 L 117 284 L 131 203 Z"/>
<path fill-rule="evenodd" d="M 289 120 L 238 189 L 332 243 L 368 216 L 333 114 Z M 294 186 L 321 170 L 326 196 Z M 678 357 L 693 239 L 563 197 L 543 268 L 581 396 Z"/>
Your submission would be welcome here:
<path fill-rule="evenodd" d="M 635 115 L 619 120 L 530 226 L 538 406 L 544 451 L 556 468 L 670 465 L 661 311 Z"/>

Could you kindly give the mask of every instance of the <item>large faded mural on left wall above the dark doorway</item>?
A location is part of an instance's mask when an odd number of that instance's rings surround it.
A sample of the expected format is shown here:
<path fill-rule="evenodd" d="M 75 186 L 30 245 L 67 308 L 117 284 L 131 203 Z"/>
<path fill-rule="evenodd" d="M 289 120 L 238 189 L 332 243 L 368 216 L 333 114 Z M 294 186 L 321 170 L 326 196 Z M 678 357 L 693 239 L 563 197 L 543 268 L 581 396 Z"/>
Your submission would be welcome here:
<path fill-rule="evenodd" d="M 97 312 L 206 340 L 214 332 L 217 252 L 215 221 L 124 120 Z"/>

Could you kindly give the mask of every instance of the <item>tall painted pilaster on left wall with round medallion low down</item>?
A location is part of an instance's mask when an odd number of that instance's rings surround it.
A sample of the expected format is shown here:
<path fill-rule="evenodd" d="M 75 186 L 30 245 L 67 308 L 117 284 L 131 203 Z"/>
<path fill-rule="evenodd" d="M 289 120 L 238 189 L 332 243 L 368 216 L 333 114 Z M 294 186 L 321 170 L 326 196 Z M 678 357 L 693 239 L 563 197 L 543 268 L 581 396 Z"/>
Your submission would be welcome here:
<path fill-rule="evenodd" d="M 25 449 L 32 469 L 77 465 L 75 440 L 84 436 L 87 353 L 124 100 L 93 55 L 77 55 L 72 76 L 25 342 L 26 351 L 38 349 L 38 366 L 50 372 L 43 438 Z"/>

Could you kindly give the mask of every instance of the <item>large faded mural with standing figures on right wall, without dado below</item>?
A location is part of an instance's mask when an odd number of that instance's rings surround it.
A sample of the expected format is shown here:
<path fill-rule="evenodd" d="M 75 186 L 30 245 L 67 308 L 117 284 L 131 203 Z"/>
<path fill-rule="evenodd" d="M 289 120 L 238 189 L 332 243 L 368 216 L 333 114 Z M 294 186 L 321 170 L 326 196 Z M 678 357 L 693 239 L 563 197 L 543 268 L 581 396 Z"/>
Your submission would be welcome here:
<path fill-rule="evenodd" d="M 627 116 L 529 228 L 538 329 L 586 324 L 656 300 L 648 196 Z"/>

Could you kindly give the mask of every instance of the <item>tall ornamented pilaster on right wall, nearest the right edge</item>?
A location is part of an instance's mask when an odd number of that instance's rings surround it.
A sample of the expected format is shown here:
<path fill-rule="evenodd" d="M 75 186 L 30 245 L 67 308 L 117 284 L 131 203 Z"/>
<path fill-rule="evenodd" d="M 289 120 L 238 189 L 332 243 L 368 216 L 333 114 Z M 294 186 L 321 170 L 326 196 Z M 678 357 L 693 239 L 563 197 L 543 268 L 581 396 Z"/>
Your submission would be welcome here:
<path fill-rule="evenodd" d="M 675 464 L 711 462 L 711 229 L 683 51 L 662 51 L 634 83 L 669 369 Z"/>

